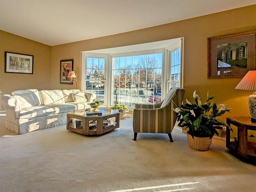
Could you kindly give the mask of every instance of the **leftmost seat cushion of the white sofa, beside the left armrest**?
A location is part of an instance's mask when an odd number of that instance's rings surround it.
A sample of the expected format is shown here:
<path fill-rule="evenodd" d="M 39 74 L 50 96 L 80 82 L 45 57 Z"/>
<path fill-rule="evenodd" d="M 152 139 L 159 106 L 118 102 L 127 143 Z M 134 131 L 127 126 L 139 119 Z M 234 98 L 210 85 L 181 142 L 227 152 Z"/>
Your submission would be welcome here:
<path fill-rule="evenodd" d="M 20 111 L 15 112 L 17 119 L 25 119 L 25 118 L 35 118 L 41 116 L 48 116 L 53 114 L 54 110 L 52 108 L 46 106 L 32 106 L 23 108 Z"/>

